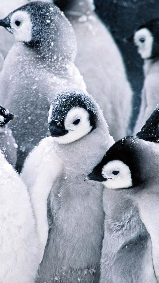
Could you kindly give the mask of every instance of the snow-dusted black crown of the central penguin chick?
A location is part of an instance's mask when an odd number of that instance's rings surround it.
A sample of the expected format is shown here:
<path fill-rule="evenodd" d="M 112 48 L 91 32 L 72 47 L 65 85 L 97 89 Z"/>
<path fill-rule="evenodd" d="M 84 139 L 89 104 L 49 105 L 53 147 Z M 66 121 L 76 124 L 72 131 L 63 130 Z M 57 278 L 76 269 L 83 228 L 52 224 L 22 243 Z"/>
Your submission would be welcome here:
<path fill-rule="evenodd" d="M 75 107 L 86 109 L 90 114 L 90 120 L 94 117 L 99 119 L 97 104 L 90 95 L 79 90 L 67 90 L 56 95 L 51 102 L 48 123 L 55 121 L 57 125 L 63 126 L 67 113 Z"/>

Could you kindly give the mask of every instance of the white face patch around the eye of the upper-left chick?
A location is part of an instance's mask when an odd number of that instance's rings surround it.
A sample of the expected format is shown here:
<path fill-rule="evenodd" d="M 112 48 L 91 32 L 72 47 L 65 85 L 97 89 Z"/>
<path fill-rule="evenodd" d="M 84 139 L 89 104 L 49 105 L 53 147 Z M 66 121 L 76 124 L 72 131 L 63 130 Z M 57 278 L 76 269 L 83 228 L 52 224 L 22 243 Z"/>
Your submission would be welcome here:
<path fill-rule="evenodd" d="M 16 25 L 16 21 L 20 22 L 19 26 Z M 10 24 L 16 41 L 31 41 L 32 23 L 30 16 L 26 11 L 17 11 L 13 13 L 10 18 Z"/>

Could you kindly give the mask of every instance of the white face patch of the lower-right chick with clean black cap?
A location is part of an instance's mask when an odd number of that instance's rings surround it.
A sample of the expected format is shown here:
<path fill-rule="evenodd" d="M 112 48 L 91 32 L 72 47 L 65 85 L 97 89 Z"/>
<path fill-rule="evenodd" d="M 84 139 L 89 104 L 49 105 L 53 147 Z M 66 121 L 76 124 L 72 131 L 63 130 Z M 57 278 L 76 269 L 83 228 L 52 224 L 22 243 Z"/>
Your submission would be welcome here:
<path fill-rule="evenodd" d="M 114 175 L 113 171 L 119 171 Z M 102 169 L 102 175 L 107 180 L 103 182 L 104 186 L 110 189 L 129 188 L 132 186 L 132 178 L 129 167 L 120 160 L 108 162 Z"/>

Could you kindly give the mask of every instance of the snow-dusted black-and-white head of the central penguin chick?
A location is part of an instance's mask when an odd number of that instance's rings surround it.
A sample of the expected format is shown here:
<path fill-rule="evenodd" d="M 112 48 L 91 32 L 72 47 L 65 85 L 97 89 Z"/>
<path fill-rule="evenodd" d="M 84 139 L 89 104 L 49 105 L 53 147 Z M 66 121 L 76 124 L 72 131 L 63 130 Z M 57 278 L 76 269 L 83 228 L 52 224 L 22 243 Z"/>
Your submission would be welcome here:
<path fill-rule="evenodd" d="M 97 119 L 97 105 L 92 97 L 77 90 L 63 91 L 51 103 L 49 130 L 58 143 L 71 143 L 91 132 Z"/>

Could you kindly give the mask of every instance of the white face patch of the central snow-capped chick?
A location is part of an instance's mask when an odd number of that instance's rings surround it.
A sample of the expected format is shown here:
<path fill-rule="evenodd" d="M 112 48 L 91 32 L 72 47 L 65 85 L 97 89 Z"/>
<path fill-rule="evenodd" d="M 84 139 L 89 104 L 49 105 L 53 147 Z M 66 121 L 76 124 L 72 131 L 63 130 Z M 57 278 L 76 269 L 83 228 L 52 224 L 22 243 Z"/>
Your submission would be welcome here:
<path fill-rule="evenodd" d="M 80 119 L 80 123 L 78 125 L 73 125 L 73 122 L 77 119 Z M 64 121 L 64 126 L 65 129 L 68 130 L 68 134 L 58 138 L 55 137 L 55 140 L 58 143 L 70 143 L 79 140 L 92 130 L 87 110 L 80 107 L 75 107 L 69 110 Z"/>

